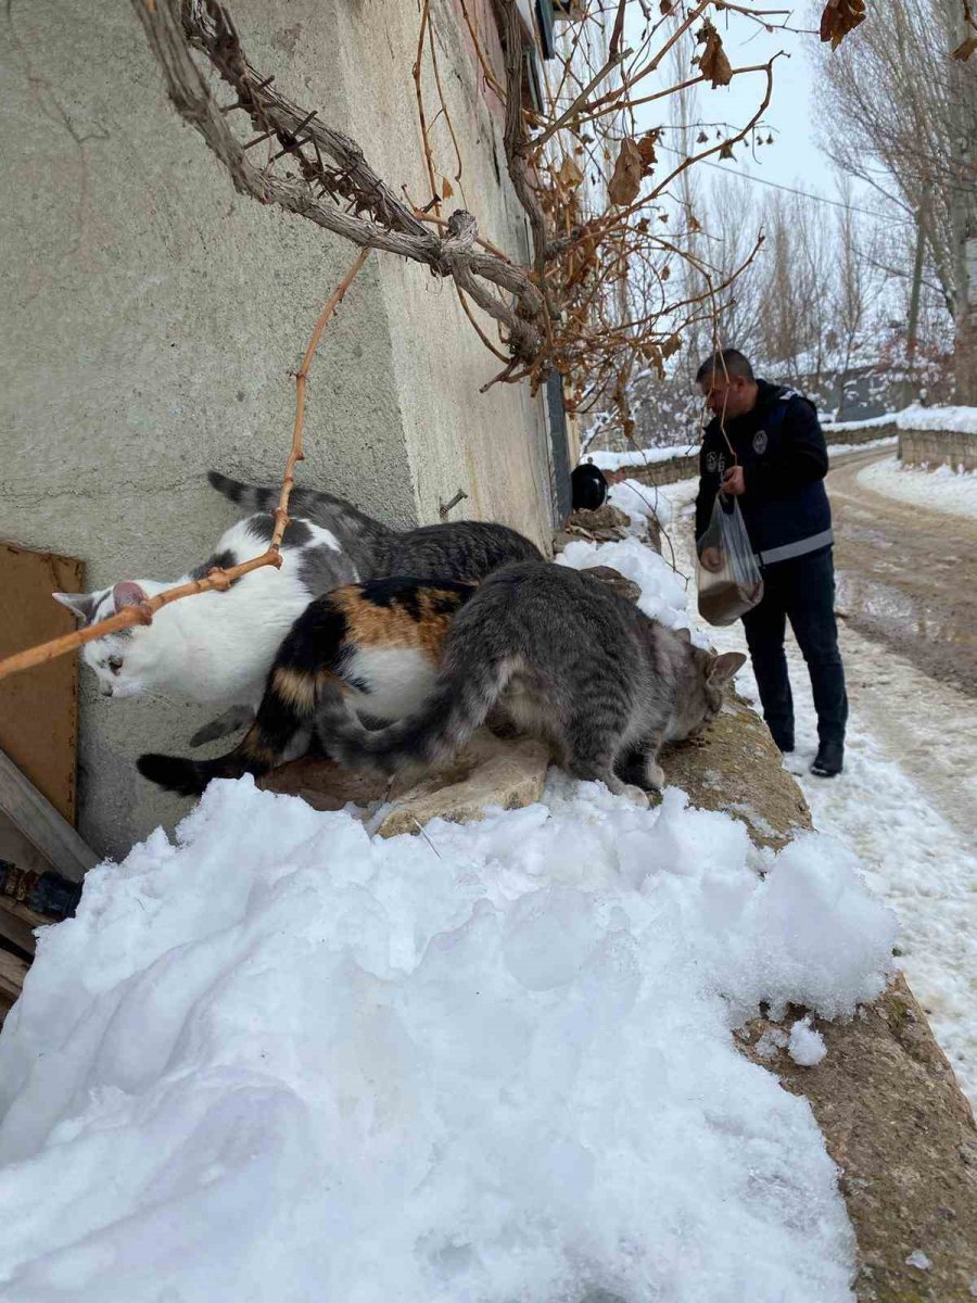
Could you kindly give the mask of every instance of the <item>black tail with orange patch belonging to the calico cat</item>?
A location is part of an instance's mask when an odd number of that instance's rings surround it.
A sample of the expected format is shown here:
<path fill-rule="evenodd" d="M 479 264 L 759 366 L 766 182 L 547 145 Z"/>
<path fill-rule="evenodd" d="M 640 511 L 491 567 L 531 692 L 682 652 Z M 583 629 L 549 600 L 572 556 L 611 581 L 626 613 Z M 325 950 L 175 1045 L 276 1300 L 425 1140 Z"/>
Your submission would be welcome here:
<path fill-rule="evenodd" d="M 232 752 L 214 760 L 146 753 L 135 762 L 142 777 L 181 796 L 199 796 L 212 778 L 261 778 L 281 764 L 297 735 L 311 731 L 323 698 L 335 697 L 339 714 L 344 684 L 332 665 L 344 625 L 331 597 L 307 606 L 285 635 L 254 723 Z"/>

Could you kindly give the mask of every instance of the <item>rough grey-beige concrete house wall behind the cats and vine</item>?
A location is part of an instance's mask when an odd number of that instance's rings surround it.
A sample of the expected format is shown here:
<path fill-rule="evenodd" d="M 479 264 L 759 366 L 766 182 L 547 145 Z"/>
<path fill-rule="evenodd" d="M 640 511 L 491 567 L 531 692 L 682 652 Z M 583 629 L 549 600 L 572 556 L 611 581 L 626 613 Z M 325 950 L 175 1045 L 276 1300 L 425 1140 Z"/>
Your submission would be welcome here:
<path fill-rule="evenodd" d="M 257 66 L 425 201 L 413 4 L 236 0 L 233 12 Z M 521 255 L 499 128 L 448 0 L 432 16 L 465 198 L 483 233 Z M 168 104 L 128 4 L 14 5 L 0 69 L 0 537 L 81 556 L 92 588 L 175 579 L 233 520 L 208 466 L 280 477 L 289 371 L 354 250 L 234 194 Z M 401 524 L 436 520 L 464 487 L 453 519 L 543 539 L 545 413 L 525 390 L 478 395 L 500 365 L 449 285 L 373 255 L 314 364 L 302 477 Z M 199 723 L 199 708 L 96 700 L 82 674 L 79 827 L 95 850 L 125 853 L 188 809 L 150 790 L 133 758 L 181 748 Z"/>

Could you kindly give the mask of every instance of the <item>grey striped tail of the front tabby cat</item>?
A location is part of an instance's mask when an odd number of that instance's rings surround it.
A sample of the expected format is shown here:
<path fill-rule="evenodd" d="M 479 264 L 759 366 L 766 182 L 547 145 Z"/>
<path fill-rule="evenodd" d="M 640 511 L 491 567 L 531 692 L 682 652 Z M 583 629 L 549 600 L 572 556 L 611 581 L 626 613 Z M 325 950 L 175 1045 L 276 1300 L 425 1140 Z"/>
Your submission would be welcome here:
<path fill-rule="evenodd" d="M 487 658 L 473 663 L 448 648 L 444 666 L 417 714 L 386 728 L 366 728 L 333 698 L 319 710 L 324 749 L 349 769 L 392 774 L 406 765 L 438 765 L 451 758 L 486 717 L 505 688 L 509 671 Z"/>

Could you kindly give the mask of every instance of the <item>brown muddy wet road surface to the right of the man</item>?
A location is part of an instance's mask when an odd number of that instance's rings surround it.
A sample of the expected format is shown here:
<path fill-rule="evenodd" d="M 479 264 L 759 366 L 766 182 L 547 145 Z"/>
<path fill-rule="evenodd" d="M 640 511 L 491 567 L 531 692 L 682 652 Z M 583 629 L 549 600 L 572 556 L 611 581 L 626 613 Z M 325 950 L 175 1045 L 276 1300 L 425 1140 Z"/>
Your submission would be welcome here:
<path fill-rule="evenodd" d="M 886 456 L 845 457 L 827 478 L 839 612 L 849 629 L 977 697 L 977 520 L 860 483 L 858 472 Z"/>

